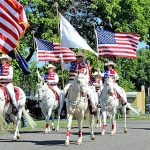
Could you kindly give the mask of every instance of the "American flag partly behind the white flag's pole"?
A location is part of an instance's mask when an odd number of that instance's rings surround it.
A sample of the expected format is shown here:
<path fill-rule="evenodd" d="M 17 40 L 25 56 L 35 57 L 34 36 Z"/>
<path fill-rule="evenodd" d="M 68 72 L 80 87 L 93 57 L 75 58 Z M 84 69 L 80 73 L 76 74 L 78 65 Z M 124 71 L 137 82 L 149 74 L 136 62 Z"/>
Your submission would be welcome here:
<path fill-rule="evenodd" d="M 43 39 L 35 39 L 37 51 L 38 51 L 38 61 L 60 61 L 60 54 L 64 61 L 75 61 L 75 53 L 69 48 L 61 47 L 59 43 L 49 42 Z"/>

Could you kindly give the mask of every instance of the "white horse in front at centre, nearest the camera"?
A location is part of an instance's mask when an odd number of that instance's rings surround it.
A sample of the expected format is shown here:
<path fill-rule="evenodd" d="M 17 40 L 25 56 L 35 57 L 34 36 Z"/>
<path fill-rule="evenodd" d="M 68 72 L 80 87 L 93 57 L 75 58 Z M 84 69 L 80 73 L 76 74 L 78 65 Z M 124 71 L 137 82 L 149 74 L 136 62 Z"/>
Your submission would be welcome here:
<path fill-rule="evenodd" d="M 84 120 L 84 114 L 89 113 L 89 107 L 88 107 L 88 99 L 87 99 L 87 80 L 85 78 L 85 75 L 82 73 L 79 73 L 73 83 L 71 84 L 69 90 L 68 90 L 68 98 L 66 101 L 66 108 L 67 108 L 67 136 L 65 144 L 70 144 L 70 136 L 71 136 L 71 124 L 72 124 L 72 118 L 73 115 L 77 118 L 78 121 L 78 140 L 77 144 L 82 143 L 82 124 Z M 91 134 L 91 140 L 95 139 L 94 135 L 94 115 L 91 115 L 89 113 L 89 119 L 90 119 L 90 134 Z"/>

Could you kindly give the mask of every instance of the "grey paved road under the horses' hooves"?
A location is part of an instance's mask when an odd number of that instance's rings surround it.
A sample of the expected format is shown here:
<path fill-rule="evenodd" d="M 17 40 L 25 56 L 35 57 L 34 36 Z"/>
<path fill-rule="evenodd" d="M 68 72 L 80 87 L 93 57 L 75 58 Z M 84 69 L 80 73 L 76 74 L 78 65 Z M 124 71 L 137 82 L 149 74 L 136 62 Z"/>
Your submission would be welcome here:
<path fill-rule="evenodd" d="M 150 150 L 150 120 L 128 120 L 128 133 L 123 133 L 122 121 L 117 124 L 117 134 L 110 135 L 108 127 L 105 136 L 100 129 L 95 129 L 96 140 L 91 141 L 89 128 L 84 127 L 83 143 L 76 145 L 77 128 L 72 129 L 71 145 L 65 146 L 65 132 L 61 128 L 58 133 L 43 134 L 42 130 L 24 131 L 21 139 L 12 142 L 12 134 L 0 135 L 0 150 Z"/>

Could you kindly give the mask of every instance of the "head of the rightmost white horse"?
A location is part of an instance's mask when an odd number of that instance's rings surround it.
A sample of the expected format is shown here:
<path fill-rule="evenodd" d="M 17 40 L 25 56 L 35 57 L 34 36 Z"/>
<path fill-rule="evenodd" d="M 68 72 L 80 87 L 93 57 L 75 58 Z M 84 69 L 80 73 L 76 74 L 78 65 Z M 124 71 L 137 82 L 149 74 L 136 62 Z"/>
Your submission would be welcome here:
<path fill-rule="evenodd" d="M 114 85 L 115 85 L 114 78 L 108 77 L 105 82 L 106 82 L 105 84 L 107 86 L 108 94 L 113 95 L 115 93 L 115 91 L 114 91 Z"/>

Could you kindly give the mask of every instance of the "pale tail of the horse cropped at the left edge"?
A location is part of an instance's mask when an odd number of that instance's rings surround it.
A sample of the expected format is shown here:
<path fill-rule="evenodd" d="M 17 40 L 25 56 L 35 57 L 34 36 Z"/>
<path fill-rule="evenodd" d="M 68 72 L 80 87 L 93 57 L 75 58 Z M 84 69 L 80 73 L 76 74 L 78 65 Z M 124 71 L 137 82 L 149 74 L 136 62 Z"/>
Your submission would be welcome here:
<path fill-rule="evenodd" d="M 23 114 L 28 122 L 28 124 L 31 126 L 32 129 L 35 129 L 36 127 L 36 123 L 33 120 L 33 118 L 30 116 L 30 114 L 25 110 L 25 108 L 23 108 Z"/>

